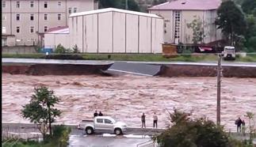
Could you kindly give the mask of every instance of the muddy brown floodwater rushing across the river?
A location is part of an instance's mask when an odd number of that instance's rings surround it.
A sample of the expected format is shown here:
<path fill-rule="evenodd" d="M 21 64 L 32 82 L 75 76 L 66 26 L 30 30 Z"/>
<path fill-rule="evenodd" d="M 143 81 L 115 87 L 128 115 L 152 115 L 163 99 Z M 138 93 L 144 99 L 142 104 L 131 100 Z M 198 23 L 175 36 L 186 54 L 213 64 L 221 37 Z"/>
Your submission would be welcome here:
<path fill-rule="evenodd" d="M 22 119 L 21 108 L 39 85 L 47 85 L 60 98 L 56 107 L 63 113 L 57 123 L 78 124 L 81 119 L 92 119 L 97 110 L 128 126 L 140 126 L 144 112 L 146 126 L 152 127 L 156 112 L 159 127 L 165 127 L 167 111 L 174 107 L 192 112 L 194 118 L 206 116 L 216 121 L 216 77 L 2 74 L 2 122 L 29 123 Z M 235 131 L 238 116 L 256 112 L 256 78 L 223 78 L 221 91 L 221 123 L 226 130 Z"/>

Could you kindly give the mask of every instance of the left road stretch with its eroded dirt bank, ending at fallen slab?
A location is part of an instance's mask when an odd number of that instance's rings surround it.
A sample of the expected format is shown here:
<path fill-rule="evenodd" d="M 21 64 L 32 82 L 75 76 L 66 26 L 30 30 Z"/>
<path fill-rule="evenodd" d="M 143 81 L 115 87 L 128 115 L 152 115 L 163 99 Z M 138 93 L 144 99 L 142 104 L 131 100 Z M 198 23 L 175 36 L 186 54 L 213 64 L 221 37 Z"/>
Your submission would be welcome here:
<path fill-rule="evenodd" d="M 113 62 L 85 60 L 56 60 L 36 58 L 2 58 L 2 72 L 29 75 L 101 74 Z"/>

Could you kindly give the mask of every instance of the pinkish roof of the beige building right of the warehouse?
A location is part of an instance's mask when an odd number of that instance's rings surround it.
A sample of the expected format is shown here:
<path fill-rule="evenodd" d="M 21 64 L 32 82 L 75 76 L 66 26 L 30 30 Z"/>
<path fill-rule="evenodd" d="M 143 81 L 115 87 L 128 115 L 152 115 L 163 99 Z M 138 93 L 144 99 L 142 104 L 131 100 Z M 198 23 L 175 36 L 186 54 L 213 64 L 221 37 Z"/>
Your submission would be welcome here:
<path fill-rule="evenodd" d="M 218 9 L 221 4 L 221 0 L 174 0 L 171 2 L 165 2 L 157 6 L 153 6 L 149 9 L 155 10 L 209 10 Z"/>

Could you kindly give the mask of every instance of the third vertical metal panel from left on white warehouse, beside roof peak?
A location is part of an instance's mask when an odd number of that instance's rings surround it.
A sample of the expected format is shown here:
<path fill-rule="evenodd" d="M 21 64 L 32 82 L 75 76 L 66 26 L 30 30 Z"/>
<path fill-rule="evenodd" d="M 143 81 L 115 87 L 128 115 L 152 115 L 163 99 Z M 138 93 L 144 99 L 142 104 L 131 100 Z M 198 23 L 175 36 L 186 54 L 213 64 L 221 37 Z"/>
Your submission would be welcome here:
<path fill-rule="evenodd" d="M 112 12 L 99 13 L 98 19 L 99 52 L 112 52 Z"/>

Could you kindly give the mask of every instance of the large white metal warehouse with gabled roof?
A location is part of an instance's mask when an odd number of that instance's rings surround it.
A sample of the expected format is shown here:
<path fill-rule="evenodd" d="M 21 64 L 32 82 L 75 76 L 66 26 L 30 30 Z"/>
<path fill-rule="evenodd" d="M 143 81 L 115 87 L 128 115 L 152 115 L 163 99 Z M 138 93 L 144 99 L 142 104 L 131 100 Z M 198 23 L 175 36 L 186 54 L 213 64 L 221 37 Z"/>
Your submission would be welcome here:
<path fill-rule="evenodd" d="M 113 8 L 72 13 L 68 37 L 70 43 L 59 43 L 70 47 L 77 44 L 84 53 L 161 53 L 163 19 Z M 47 40 L 48 46 L 58 44 Z"/>

